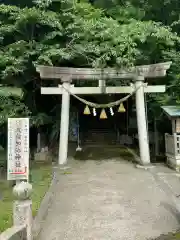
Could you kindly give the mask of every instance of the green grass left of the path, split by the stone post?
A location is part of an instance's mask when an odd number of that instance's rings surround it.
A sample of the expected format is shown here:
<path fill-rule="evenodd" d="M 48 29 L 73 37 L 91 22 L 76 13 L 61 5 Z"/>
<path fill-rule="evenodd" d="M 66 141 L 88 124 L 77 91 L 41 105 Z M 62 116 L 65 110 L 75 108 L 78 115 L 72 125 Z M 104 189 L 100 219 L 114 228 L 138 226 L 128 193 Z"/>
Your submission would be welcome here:
<path fill-rule="evenodd" d="M 48 190 L 52 178 L 52 167 L 47 164 L 34 164 L 31 167 L 31 183 L 33 185 L 32 211 L 36 215 L 40 203 Z M 0 232 L 12 226 L 13 207 L 12 187 L 6 180 L 0 180 Z"/>

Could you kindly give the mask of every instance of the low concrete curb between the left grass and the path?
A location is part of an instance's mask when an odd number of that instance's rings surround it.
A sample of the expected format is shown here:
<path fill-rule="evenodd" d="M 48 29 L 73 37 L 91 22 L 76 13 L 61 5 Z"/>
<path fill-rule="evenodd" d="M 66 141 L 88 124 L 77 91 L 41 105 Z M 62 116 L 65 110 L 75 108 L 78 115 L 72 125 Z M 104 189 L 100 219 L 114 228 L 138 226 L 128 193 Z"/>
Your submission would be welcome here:
<path fill-rule="evenodd" d="M 46 192 L 46 194 L 41 202 L 38 213 L 33 220 L 33 230 L 32 231 L 33 231 L 33 238 L 35 238 L 35 239 L 38 237 L 38 235 L 42 229 L 42 225 L 43 225 L 43 222 L 45 221 L 48 209 L 52 204 L 52 198 L 54 195 L 55 186 L 58 181 L 57 180 L 57 171 L 53 166 L 52 166 L 52 174 L 53 174 L 53 177 L 52 177 L 49 189 Z"/>

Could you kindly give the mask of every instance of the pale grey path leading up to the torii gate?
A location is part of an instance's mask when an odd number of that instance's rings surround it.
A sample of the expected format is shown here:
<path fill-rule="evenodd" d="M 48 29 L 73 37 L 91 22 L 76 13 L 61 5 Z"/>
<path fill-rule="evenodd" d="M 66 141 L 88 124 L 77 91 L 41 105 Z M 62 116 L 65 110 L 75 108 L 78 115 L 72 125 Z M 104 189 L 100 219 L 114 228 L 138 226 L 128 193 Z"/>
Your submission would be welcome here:
<path fill-rule="evenodd" d="M 145 240 L 179 229 L 178 212 L 151 172 L 122 159 L 73 165 L 59 173 L 39 240 Z"/>

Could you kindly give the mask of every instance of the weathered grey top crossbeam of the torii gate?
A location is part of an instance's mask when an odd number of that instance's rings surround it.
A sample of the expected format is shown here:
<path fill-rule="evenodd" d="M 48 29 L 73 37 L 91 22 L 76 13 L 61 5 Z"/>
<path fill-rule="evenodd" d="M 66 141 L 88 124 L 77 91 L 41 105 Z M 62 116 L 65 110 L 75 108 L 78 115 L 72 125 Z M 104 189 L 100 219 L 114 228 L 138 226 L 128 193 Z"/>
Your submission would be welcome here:
<path fill-rule="evenodd" d="M 170 68 L 171 63 L 172 62 L 164 62 L 142 65 L 131 67 L 126 70 L 116 70 L 112 68 L 69 68 L 39 65 L 36 70 L 40 73 L 40 77 L 42 79 L 62 79 L 65 76 L 71 77 L 71 80 L 134 79 L 137 76 L 142 76 L 144 78 L 156 78 L 164 77 L 166 75 L 166 71 Z"/>

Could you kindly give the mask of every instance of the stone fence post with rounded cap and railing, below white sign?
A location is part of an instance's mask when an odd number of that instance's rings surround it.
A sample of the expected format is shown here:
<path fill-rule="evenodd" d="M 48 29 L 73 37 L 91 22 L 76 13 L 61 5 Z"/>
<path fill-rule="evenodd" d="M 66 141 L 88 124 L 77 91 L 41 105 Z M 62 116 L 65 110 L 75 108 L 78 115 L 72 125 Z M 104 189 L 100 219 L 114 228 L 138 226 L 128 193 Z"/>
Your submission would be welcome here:
<path fill-rule="evenodd" d="M 0 234 L 0 240 L 32 240 L 32 186 L 27 182 L 18 183 L 13 193 L 13 226 Z"/>

